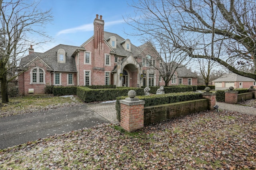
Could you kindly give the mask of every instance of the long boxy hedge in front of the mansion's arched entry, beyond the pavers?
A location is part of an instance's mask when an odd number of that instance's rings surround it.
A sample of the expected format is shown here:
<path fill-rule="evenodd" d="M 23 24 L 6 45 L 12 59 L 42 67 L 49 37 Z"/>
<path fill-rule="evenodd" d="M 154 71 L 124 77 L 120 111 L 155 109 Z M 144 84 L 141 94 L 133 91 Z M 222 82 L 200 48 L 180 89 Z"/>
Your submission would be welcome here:
<path fill-rule="evenodd" d="M 84 102 L 98 102 L 116 100 L 118 96 L 126 96 L 130 90 L 135 90 L 137 95 L 143 95 L 142 88 L 109 88 L 109 89 L 90 89 L 88 87 L 78 87 L 77 96 Z"/>

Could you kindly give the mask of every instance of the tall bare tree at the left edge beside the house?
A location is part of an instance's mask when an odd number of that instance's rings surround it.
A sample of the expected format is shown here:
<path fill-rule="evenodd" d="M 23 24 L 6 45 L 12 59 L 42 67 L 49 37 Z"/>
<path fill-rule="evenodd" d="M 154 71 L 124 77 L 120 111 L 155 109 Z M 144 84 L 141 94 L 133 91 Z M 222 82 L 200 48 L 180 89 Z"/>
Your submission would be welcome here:
<path fill-rule="evenodd" d="M 52 21 L 51 11 L 38 9 L 39 2 L 10 0 L 2 2 L 0 11 L 0 81 L 2 103 L 9 102 L 8 82 L 14 80 L 20 72 L 13 71 L 20 58 L 30 45 L 50 41 L 43 28 Z M 38 38 L 38 37 L 40 38 Z M 10 76 L 8 76 L 10 75 Z"/>

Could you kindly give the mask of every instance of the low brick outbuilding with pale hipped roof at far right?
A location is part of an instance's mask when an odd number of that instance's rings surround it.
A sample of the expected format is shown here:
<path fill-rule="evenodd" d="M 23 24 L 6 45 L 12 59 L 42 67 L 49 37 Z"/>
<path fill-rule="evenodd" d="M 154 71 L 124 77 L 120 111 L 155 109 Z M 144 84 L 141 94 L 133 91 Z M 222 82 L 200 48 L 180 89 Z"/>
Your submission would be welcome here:
<path fill-rule="evenodd" d="M 216 89 L 228 89 L 230 86 L 234 88 L 250 88 L 250 86 L 254 86 L 254 88 L 256 87 L 254 79 L 240 76 L 235 73 L 225 74 L 212 82 Z"/>

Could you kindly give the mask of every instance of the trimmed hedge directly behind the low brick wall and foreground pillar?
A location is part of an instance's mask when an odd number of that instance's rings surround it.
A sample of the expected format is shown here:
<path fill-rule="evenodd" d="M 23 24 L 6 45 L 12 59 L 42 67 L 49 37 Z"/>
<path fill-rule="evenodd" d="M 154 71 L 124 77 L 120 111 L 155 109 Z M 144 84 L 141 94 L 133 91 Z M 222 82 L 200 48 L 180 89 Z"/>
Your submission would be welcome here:
<path fill-rule="evenodd" d="M 121 105 L 119 100 L 123 100 L 128 96 L 120 96 L 116 98 L 116 118 L 120 121 L 120 111 Z M 151 96 L 136 96 L 140 100 L 145 101 L 146 106 L 154 106 L 160 104 L 168 104 L 168 103 L 176 103 L 176 102 L 183 102 L 188 100 L 196 100 L 201 99 L 201 93 L 194 93 L 194 92 L 181 92 L 181 93 L 169 93 L 169 94 L 160 94 L 160 95 L 151 95 Z"/>

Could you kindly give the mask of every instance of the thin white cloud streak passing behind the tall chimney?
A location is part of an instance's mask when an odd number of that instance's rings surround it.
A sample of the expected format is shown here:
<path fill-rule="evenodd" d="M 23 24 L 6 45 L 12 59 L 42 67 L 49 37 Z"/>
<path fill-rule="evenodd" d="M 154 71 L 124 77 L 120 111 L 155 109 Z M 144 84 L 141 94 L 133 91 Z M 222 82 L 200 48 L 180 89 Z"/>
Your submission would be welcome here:
<path fill-rule="evenodd" d="M 124 20 L 116 20 L 116 21 L 110 21 L 110 22 L 105 22 L 105 26 L 110 26 L 110 25 L 117 25 L 119 23 L 122 23 Z M 81 25 L 78 27 L 70 28 L 70 29 L 64 29 L 61 30 L 57 33 L 56 36 L 61 35 L 61 34 L 68 34 L 68 33 L 77 33 L 77 32 L 86 32 L 86 31 L 93 31 L 94 26 L 93 23 Z"/>

